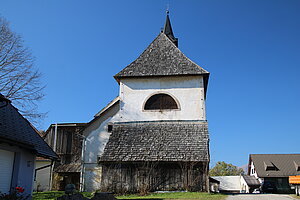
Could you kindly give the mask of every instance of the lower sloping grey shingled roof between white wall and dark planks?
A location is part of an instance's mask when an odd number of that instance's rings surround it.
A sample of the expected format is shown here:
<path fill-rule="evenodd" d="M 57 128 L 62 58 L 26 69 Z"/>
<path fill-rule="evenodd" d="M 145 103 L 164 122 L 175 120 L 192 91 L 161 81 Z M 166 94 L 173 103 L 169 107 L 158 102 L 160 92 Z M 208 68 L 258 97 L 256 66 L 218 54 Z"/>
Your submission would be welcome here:
<path fill-rule="evenodd" d="M 100 162 L 209 161 L 206 121 L 119 122 Z"/>

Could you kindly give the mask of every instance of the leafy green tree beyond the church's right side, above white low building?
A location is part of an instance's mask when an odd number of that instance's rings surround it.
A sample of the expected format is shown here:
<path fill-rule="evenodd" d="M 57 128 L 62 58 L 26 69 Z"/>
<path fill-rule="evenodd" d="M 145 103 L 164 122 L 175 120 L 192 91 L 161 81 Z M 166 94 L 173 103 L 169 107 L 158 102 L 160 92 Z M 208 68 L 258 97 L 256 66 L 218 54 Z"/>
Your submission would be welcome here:
<path fill-rule="evenodd" d="M 219 161 L 217 164 L 209 170 L 210 176 L 237 176 L 244 174 L 242 168 L 238 168 L 232 164 L 228 164 L 224 161 Z"/>

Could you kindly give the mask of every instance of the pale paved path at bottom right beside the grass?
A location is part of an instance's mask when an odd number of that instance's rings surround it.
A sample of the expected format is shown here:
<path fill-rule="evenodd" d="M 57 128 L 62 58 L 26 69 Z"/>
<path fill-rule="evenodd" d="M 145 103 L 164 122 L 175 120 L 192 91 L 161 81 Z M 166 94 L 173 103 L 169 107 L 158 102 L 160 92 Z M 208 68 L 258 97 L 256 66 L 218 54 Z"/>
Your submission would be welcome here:
<path fill-rule="evenodd" d="M 292 200 L 289 195 L 282 194 L 239 194 L 230 195 L 226 200 Z"/>

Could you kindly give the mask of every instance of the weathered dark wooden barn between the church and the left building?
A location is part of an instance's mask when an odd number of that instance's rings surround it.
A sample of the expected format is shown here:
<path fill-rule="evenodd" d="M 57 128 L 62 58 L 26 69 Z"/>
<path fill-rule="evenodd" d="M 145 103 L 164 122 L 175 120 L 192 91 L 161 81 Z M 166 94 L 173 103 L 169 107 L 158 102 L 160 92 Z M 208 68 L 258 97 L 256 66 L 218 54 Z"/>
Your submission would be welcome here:
<path fill-rule="evenodd" d="M 75 184 L 77 190 L 80 189 L 84 141 L 82 130 L 85 125 L 85 123 L 58 123 L 51 124 L 46 130 L 44 140 L 59 156 L 49 174 L 51 190 L 64 190 L 65 186 L 71 183 Z M 37 179 L 39 178 L 38 176 Z"/>

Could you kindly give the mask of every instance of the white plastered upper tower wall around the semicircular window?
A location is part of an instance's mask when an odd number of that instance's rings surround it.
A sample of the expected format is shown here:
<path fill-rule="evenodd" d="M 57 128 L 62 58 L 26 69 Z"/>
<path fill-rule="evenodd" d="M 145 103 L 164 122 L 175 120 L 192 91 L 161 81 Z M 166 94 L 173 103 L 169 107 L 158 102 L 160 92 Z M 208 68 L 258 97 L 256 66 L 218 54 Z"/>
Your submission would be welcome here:
<path fill-rule="evenodd" d="M 179 102 L 177 110 L 145 111 L 145 101 L 166 93 Z M 206 120 L 202 76 L 122 79 L 121 110 L 114 121 Z"/>

